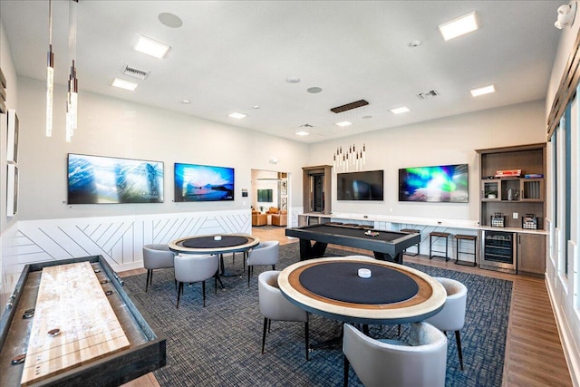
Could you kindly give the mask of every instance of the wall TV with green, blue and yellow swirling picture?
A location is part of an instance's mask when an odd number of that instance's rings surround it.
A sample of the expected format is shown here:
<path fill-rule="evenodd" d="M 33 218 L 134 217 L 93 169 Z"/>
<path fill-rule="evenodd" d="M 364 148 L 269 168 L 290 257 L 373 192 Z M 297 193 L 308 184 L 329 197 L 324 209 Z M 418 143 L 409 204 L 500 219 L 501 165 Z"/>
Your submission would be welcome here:
<path fill-rule="evenodd" d="M 468 164 L 399 169 L 399 201 L 467 203 Z"/>

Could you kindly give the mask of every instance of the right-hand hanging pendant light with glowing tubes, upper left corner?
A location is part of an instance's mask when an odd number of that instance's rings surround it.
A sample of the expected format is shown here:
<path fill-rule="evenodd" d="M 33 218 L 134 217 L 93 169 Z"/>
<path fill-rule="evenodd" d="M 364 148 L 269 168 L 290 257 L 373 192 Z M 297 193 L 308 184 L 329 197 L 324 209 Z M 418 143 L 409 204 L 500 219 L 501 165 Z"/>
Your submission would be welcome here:
<path fill-rule="evenodd" d="M 74 130 L 77 128 L 79 81 L 76 78 L 76 3 L 69 3 L 69 54 L 71 56 L 71 73 L 69 75 L 69 90 L 66 94 L 66 141 L 71 142 Z"/>

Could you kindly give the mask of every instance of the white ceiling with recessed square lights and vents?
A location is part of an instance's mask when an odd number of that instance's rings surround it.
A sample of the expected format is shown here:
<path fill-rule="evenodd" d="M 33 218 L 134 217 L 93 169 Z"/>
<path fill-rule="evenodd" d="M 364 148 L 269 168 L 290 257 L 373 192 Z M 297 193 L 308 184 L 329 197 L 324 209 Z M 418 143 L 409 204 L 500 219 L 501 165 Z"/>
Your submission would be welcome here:
<path fill-rule="evenodd" d="M 304 142 L 546 97 L 563 1 L 96 1 L 77 5 L 77 72 L 96 92 Z M 480 29 L 444 42 L 437 28 L 476 11 Z M 178 15 L 180 28 L 160 23 Z M 48 1 L 0 1 L 19 75 L 45 79 Z M 55 79 L 69 71 L 69 2 L 53 0 Z M 163 59 L 132 50 L 139 34 Z M 418 47 L 411 47 L 420 40 Z M 135 92 L 111 87 L 125 65 L 150 71 Z M 298 77 L 301 82 L 286 82 Z M 469 89 L 494 83 L 473 98 Z M 323 92 L 306 92 L 310 87 Z M 438 97 L 421 100 L 420 92 Z M 180 103 L 183 99 L 191 103 Z M 370 104 L 335 114 L 335 106 Z M 254 109 L 258 105 L 259 109 Z M 401 115 L 389 109 L 408 106 Z M 237 121 L 232 111 L 248 114 Z M 372 116 L 362 119 L 362 116 Z M 339 128 L 334 122 L 353 125 Z M 311 134 L 295 131 L 308 123 Z M 160 128 L 162 130 L 163 128 Z"/>

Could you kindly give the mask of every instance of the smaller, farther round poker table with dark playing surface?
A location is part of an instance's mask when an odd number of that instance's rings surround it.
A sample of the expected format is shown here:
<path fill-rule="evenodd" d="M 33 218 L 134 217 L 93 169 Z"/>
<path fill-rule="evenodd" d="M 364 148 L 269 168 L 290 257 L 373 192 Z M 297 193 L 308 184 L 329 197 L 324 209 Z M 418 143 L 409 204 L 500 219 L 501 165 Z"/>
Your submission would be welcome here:
<path fill-rule="evenodd" d="M 226 254 L 247 251 L 260 243 L 248 234 L 212 234 L 182 237 L 169 243 L 169 249 L 181 254 Z"/>

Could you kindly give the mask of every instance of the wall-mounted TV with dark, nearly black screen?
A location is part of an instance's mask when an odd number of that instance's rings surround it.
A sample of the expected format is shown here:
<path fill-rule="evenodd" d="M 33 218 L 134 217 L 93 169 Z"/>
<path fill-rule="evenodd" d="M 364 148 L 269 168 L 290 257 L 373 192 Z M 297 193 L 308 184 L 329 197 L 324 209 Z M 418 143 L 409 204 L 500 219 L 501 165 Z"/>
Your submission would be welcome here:
<path fill-rule="evenodd" d="M 338 200 L 382 200 L 382 170 L 347 172 L 336 175 Z"/>

